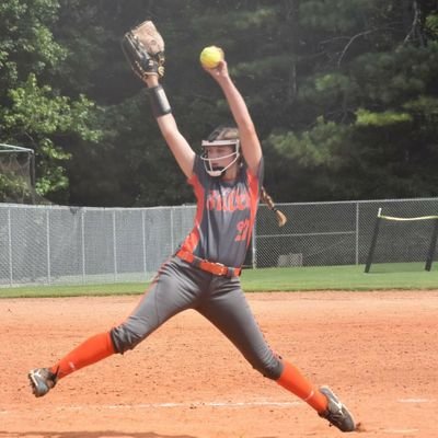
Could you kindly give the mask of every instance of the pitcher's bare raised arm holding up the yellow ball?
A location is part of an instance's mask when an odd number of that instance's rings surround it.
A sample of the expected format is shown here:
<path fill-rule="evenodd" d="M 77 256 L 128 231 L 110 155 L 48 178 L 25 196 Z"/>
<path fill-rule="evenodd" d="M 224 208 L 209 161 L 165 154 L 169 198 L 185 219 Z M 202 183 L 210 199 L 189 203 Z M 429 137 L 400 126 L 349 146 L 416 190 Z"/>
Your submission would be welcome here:
<path fill-rule="evenodd" d="M 234 122 L 239 128 L 243 158 L 250 171 L 256 174 L 262 159 L 262 147 L 246 103 L 230 78 L 227 61 L 221 60 L 215 69 L 205 68 L 205 70 L 211 74 L 223 91 Z"/>

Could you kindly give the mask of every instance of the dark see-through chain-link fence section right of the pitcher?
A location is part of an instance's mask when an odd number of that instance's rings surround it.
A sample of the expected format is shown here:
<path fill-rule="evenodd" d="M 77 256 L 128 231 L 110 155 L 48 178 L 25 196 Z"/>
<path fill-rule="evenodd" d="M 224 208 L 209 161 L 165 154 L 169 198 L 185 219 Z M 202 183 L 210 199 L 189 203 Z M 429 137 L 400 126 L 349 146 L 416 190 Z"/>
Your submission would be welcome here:
<path fill-rule="evenodd" d="M 288 222 L 261 208 L 255 229 L 255 265 L 330 266 L 367 261 L 379 208 L 404 218 L 438 215 L 438 198 L 283 204 Z M 434 221 L 385 222 L 380 227 L 373 263 L 425 262 Z M 436 260 L 436 258 L 435 258 Z"/>

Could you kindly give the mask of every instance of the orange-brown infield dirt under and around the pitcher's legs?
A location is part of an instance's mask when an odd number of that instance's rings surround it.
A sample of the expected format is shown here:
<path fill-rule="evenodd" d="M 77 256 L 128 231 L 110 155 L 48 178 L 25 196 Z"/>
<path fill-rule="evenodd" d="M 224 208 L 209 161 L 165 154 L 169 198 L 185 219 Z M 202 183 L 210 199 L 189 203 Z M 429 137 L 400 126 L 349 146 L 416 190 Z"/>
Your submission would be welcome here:
<path fill-rule="evenodd" d="M 0 438 L 339 437 L 195 311 L 35 399 L 27 371 L 122 322 L 134 297 L 0 300 Z M 247 293 L 272 348 L 328 384 L 361 438 L 438 436 L 438 290 Z M 350 436 L 354 436 L 351 434 Z"/>

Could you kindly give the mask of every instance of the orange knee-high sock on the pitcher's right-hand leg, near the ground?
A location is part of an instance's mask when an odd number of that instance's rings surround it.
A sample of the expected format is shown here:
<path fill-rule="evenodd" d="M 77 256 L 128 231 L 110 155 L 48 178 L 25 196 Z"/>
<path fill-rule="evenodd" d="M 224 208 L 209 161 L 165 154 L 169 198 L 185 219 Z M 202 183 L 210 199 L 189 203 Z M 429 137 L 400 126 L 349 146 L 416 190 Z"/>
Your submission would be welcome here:
<path fill-rule="evenodd" d="M 314 388 L 297 367 L 285 360 L 281 362 L 284 368 L 277 383 L 310 404 L 316 412 L 325 411 L 327 408 L 326 396 L 318 388 Z"/>

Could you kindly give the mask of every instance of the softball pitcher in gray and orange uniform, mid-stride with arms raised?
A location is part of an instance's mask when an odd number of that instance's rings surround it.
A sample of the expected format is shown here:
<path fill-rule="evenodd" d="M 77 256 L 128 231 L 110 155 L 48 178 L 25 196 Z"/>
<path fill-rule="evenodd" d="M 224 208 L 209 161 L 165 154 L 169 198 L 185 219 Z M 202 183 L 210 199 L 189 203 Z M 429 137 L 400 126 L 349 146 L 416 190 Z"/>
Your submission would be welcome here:
<path fill-rule="evenodd" d="M 152 31 L 157 32 L 153 25 Z M 157 33 L 154 38 L 157 42 L 161 36 Z M 163 49 L 154 53 L 146 46 L 141 56 L 147 59 L 141 65 L 141 78 L 148 87 L 153 114 L 197 199 L 194 228 L 120 325 L 88 338 L 51 367 L 30 371 L 33 393 L 37 397 L 47 394 L 73 371 L 135 348 L 170 318 L 194 309 L 218 327 L 264 377 L 302 399 L 339 430 L 354 431 L 351 414 L 327 387 L 313 387 L 292 364 L 272 351 L 241 289 L 239 276 L 256 216 L 263 157 L 227 61 L 223 59 L 205 71 L 222 90 L 237 128 L 215 130 L 203 141 L 201 154 L 197 155 L 180 132 L 159 82 L 163 74 Z"/>

